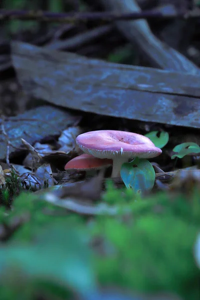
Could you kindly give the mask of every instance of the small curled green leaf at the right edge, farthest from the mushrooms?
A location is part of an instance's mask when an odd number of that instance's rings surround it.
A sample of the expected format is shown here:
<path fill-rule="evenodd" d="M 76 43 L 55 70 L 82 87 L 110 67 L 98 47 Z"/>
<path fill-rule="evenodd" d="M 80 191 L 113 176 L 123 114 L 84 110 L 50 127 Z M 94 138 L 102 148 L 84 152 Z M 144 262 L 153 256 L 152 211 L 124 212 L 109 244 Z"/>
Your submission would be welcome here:
<path fill-rule="evenodd" d="M 176 152 L 176 154 L 173 154 L 171 159 L 175 157 L 182 158 L 190 153 L 199 153 L 200 147 L 195 142 L 183 142 L 179 145 L 176 145 L 173 148 L 173 152 Z"/>

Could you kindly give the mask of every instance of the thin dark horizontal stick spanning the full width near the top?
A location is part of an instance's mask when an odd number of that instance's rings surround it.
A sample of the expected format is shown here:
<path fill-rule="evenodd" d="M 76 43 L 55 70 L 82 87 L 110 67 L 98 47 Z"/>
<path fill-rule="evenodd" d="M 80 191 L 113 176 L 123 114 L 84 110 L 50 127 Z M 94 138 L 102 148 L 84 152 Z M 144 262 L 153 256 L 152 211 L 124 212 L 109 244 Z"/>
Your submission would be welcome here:
<path fill-rule="evenodd" d="M 78 21 L 103 21 L 111 22 L 114 20 L 130 20 L 141 18 L 162 18 L 162 19 L 174 19 L 174 18 L 198 18 L 200 15 L 199 10 L 191 11 L 177 11 L 177 12 L 163 12 L 153 10 L 143 10 L 136 12 L 49 12 L 42 10 L 7 10 L 0 9 L 0 20 L 37 20 L 45 22 L 64 22 L 74 23 Z"/>

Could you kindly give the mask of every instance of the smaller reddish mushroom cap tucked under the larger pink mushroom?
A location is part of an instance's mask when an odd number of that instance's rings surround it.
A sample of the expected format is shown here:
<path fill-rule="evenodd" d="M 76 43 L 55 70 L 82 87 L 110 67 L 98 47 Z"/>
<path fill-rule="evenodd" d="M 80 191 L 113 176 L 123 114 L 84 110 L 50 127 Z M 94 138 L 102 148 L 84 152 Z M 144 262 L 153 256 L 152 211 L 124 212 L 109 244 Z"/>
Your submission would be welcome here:
<path fill-rule="evenodd" d="M 111 159 L 97 158 L 90 154 L 81 154 L 69 160 L 65 166 L 65 170 L 76 171 L 93 171 L 99 170 L 103 167 L 112 165 Z"/>

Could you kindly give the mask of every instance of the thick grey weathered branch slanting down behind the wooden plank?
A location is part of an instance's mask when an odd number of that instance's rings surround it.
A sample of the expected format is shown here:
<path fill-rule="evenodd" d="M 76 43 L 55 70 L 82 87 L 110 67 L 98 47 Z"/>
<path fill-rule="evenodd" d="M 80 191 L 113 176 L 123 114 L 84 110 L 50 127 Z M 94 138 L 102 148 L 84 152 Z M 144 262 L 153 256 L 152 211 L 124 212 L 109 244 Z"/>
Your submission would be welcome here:
<path fill-rule="evenodd" d="M 143 13 L 135 0 L 98 0 L 107 10 L 114 13 L 136 14 Z M 198 10 L 199 11 L 199 10 Z M 111 13 L 111 12 L 110 12 Z M 161 12 L 159 12 L 161 14 Z M 194 15 L 194 11 L 188 15 Z M 165 14 L 164 14 L 165 15 Z M 175 14 L 173 14 L 175 15 Z M 180 13 L 181 15 L 181 13 Z M 179 15 L 179 16 L 180 16 Z M 183 15 L 185 15 L 183 13 Z M 186 13 L 187 15 L 187 13 Z M 176 15 L 177 17 L 177 15 Z M 145 19 L 140 20 L 117 20 L 116 26 L 119 31 L 134 45 L 136 44 L 144 57 L 152 66 L 179 72 L 200 74 L 200 69 L 189 59 L 175 49 L 161 42 L 150 30 Z"/>

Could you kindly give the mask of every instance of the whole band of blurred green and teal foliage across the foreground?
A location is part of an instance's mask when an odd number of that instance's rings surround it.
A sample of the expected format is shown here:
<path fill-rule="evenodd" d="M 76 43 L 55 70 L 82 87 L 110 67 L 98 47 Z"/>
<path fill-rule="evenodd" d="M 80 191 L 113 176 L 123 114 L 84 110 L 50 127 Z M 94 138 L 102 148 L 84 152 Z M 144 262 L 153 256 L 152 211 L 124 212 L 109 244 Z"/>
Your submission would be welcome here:
<path fill-rule="evenodd" d="M 198 194 L 196 189 L 189 199 L 186 194 L 163 192 L 141 198 L 108 183 L 103 200 L 128 204 L 129 212 L 119 209 L 115 217 L 97 216 L 88 222 L 34 193 L 21 193 L 11 211 L 0 207 L 0 224 L 5 227 L 28 215 L 0 243 L 0 298 L 70 299 L 74 292 L 85 296 L 94 291 L 99 282 L 196 300 L 200 270 L 193 246 L 200 229 Z"/>

